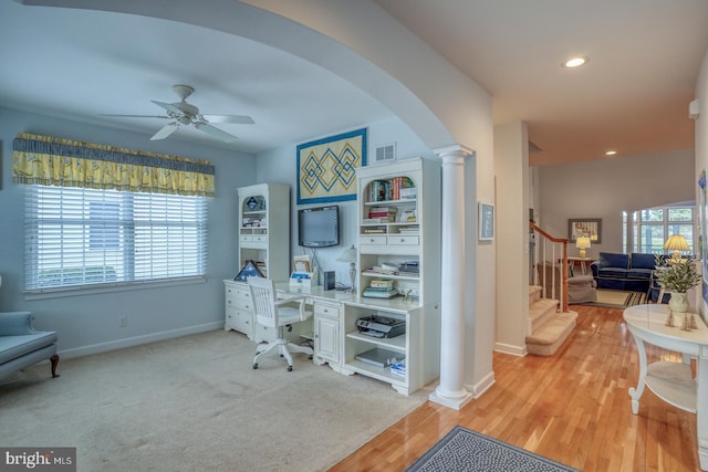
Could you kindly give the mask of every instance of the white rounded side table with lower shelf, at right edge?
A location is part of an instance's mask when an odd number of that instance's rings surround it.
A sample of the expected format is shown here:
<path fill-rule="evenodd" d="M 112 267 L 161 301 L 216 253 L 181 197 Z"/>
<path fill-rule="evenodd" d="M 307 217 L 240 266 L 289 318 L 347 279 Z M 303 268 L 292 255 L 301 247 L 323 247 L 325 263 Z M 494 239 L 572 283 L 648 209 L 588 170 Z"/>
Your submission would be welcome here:
<path fill-rule="evenodd" d="M 639 411 L 644 387 L 657 397 L 681 410 L 696 413 L 698 460 L 700 469 L 708 471 L 708 327 L 696 315 L 698 328 L 681 331 L 683 314 L 675 314 L 677 327 L 665 325 L 669 314 L 667 305 L 636 305 L 624 311 L 624 321 L 637 345 L 639 354 L 639 382 L 629 388 L 632 412 Z M 644 344 L 684 354 L 684 359 L 696 358 L 696 378 L 690 366 L 683 363 L 658 361 L 647 365 Z"/>

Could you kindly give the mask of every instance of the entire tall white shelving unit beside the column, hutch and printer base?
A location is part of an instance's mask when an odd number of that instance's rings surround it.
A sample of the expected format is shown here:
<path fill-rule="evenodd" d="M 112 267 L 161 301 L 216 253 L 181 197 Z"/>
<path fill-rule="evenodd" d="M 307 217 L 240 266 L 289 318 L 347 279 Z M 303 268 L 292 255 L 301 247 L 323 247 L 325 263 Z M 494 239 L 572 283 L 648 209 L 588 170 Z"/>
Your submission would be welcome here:
<path fill-rule="evenodd" d="M 373 377 L 409 395 L 439 375 L 440 165 L 413 158 L 360 168 L 356 178 L 358 283 L 356 300 L 344 302 L 342 373 Z M 417 265 L 418 273 L 381 271 L 404 263 Z M 366 296 L 374 280 L 393 281 L 393 289 L 406 296 Z M 361 334 L 356 321 L 365 316 L 404 321 L 406 333 L 392 338 Z M 374 348 L 405 357 L 405 375 L 356 358 Z"/>

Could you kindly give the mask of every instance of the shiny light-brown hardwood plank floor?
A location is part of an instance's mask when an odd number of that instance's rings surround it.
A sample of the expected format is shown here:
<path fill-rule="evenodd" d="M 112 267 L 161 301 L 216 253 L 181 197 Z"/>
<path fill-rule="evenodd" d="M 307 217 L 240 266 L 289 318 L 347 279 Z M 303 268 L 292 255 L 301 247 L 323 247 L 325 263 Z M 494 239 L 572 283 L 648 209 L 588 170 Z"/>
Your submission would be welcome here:
<path fill-rule="evenodd" d="M 403 471 L 461 424 L 583 471 L 699 471 L 696 416 L 645 389 L 622 311 L 573 305 L 577 327 L 552 357 L 494 354 L 496 384 L 461 411 L 426 402 L 331 471 Z M 680 361 L 647 346 L 650 360 Z M 695 366 L 694 366 L 695 368 Z"/>

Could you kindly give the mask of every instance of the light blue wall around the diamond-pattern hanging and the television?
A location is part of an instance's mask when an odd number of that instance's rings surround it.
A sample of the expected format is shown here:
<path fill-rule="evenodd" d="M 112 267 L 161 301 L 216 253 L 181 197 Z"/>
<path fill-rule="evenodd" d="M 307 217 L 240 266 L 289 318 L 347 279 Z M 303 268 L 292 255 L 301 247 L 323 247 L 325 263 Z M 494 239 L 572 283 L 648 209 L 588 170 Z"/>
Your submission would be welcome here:
<path fill-rule="evenodd" d="M 415 135 L 410 128 L 398 118 L 391 118 L 386 120 L 369 123 L 366 127 L 368 129 L 368 162 L 374 161 L 374 156 L 377 147 L 395 144 L 397 159 L 405 159 L 410 157 L 424 157 L 436 158 L 430 149 L 428 149 L 420 138 Z M 340 133 L 350 132 L 353 129 L 342 129 Z M 336 135 L 339 133 L 332 133 Z M 326 136 L 313 136 L 306 141 L 320 139 Z M 279 149 L 274 149 L 269 153 L 258 155 L 258 169 L 257 169 L 257 182 L 277 182 L 287 183 L 290 186 L 290 199 L 291 199 L 291 218 L 290 218 L 290 233 L 291 233 L 291 254 L 303 254 L 303 249 L 298 245 L 298 209 L 311 206 L 298 206 L 296 204 L 296 156 L 295 148 L 302 143 L 293 143 L 290 146 L 284 146 Z M 340 201 L 336 202 L 340 206 L 340 218 L 342 219 L 341 225 L 341 243 L 334 248 L 322 248 L 317 250 L 317 260 L 320 266 L 324 271 L 335 271 L 336 281 L 342 282 L 345 285 L 350 284 L 348 264 L 344 262 L 337 262 L 336 258 L 351 244 L 356 244 L 356 202 L 355 201 Z M 308 250 L 308 254 L 312 254 L 311 250 Z"/>

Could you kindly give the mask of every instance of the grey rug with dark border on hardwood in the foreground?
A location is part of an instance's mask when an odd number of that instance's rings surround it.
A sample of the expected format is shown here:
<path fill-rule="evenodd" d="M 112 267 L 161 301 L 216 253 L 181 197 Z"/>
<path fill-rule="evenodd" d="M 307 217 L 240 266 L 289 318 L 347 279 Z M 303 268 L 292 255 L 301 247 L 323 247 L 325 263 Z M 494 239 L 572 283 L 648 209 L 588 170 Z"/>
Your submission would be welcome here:
<path fill-rule="evenodd" d="M 461 426 L 452 428 L 445 438 L 406 470 L 409 472 L 577 471 Z"/>

